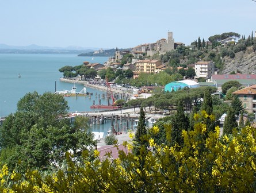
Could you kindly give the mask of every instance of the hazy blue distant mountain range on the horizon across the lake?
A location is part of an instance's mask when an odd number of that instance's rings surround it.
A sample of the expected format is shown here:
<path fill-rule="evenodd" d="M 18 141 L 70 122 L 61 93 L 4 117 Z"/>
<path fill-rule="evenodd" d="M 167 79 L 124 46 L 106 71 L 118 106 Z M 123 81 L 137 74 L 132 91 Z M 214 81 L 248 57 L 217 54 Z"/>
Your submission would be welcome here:
<path fill-rule="evenodd" d="M 0 53 L 88 53 L 100 48 L 83 48 L 77 46 L 62 47 L 43 47 L 39 45 L 14 46 L 0 44 Z"/>

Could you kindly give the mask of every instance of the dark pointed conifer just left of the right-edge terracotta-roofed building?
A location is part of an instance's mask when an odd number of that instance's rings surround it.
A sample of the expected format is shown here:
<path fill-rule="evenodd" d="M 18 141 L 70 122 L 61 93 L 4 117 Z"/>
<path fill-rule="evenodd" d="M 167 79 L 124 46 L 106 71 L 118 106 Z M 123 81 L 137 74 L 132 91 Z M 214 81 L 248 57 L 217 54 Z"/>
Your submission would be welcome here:
<path fill-rule="evenodd" d="M 223 134 L 232 134 L 232 130 L 237 127 L 238 123 L 235 119 L 235 111 L 234 109 L 230 108 L 224 121 Z"/>

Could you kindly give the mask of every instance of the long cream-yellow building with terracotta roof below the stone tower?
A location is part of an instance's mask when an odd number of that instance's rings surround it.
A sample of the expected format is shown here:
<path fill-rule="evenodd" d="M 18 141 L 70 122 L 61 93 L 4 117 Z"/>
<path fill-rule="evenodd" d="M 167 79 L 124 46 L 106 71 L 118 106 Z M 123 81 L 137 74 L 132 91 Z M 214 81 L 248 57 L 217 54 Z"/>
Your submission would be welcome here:
<path fill-rule="evenodd" d="M 162 62 L 159 60 L 138 60 L 135 63 L 135 71 L 155 74 L 157 72 L 156 67 L 159 65 L 162 65 Z"/>

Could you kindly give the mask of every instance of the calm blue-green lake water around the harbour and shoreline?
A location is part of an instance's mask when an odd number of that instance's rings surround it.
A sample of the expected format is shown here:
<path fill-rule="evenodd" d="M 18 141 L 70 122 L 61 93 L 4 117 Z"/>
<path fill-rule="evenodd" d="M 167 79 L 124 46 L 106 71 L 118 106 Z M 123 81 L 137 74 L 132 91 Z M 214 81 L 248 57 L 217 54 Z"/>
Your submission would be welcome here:
<path fill-rule="evenodd" d="M 108 57 L 81 57 L 65 54 L 0 54 L 0 108 L 1 117 L 15 113 L 17 102 L 28 92 L 37 91 L 43 94 L 46 91 L 71 90 L 72 83 L 60 82 L 62 73 L 59 68 L 65 65 L 81 65 L 83 61 L 90 63 L 104 64 Z M 18 78 L 20 74 L 21 78 Z M 82 84 L 76 84 L 77 91 L 81 91 Z M 86 91 L 93 92 L 93 96 L 67 97 L 70 111 L 93 111 L 90 106 L 93 101 L 98 104 L 95 93 L 105 92 L 86 88 Z M 105 99 L 101 99 L 106 104 Z"/>

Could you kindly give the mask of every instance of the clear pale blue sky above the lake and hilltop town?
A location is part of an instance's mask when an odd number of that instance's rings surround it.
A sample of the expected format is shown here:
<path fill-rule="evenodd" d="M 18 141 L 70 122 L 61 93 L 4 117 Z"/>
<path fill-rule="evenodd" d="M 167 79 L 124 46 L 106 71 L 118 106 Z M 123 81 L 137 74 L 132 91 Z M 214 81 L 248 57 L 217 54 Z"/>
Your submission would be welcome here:
<path fill-rule="evenodd" d="M 198 37 L 256 31 L 252 0 L 2 0 L 0 44 L 132 48 L 173 32 L 190 45 Z"/>

